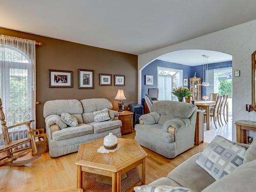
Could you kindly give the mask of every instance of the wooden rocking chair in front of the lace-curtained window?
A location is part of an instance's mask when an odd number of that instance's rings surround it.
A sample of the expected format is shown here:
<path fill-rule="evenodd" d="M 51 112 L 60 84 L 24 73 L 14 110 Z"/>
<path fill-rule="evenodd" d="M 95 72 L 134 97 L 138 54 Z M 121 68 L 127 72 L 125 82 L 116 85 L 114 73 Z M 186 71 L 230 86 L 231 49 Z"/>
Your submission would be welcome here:
<path fill-rule="evenodd" d="M 28 163 L 31 163 L 39 158 L 41 158 L 40 155 L 37 155 L 37 148 L 36 148 L 36 143 L 35 143 L 35 138 L 34 138 L 34 131 L 31 129 L 31 122 L 34 120 L 30 120 L 24 123 L 19 123 L 16 125 L 12 125 L 7 127 L 6 126 L 6 121 L 5 121 L 5 114 L 3 112 L 3 106 L 2 106 L 2 100 L 0 99 L 0 120 L 1 120 L 1 129 L 4 137 L 4 142 L 5 145 L 0 147 L 0 153 L 6 153 L 6 155 L 0 157 L 0 166 L 22 166 Z M 13 127 L 21 126 L 21 125 L 26 125 L 28 127 L 28 138 L 24 139 L 19 139 L 17 141 L 12 141 L 10 142 L 10 136 L 8 133 L 8 129 L 11 129 Z M 23 145 L 25 143 L 30 143 L 30 146 L 28 147 L 23 147 L 23 148 L 17 148 L 19 145 Z M 32 152 L 32 158 L 27 159 L 27 160 L 18 160 L 18 158 L 23 157 L 27 154 Z M 17 154 L 18 153 L 18 154 Z"/>

